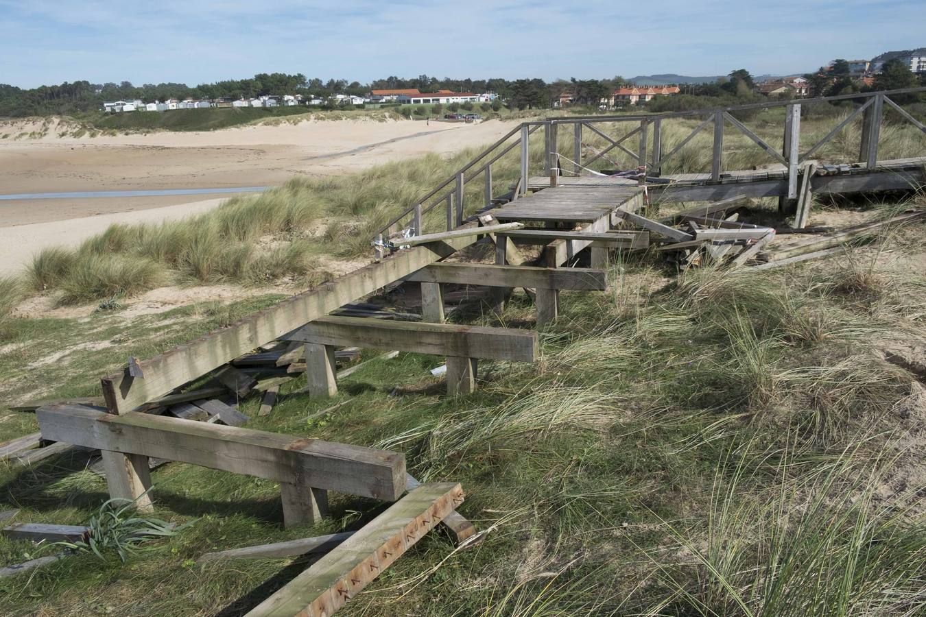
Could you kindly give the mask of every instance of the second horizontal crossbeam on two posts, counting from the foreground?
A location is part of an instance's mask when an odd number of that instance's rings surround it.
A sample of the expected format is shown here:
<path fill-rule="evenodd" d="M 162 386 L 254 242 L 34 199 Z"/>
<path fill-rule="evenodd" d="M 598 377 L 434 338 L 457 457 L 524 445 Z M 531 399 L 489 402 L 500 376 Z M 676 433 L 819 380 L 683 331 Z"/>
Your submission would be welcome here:
<path fill-rule="evenodd" d="M 362 317 L 322 317 L 286 335 L 322 345 L 357 344 L 402 352 L 533 362 L 537 333 L 507 327 L 379 321 Z"/>

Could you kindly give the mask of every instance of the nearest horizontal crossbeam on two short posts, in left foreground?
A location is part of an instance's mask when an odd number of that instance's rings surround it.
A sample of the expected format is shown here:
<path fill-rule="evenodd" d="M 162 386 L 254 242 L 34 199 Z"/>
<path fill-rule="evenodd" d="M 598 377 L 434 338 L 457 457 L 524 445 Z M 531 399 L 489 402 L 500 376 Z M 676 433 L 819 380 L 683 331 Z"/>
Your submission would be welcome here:
<path fill-rule="evenodd" d="M 45 438 L 254 475 L 277 482 L 394 501 L 406 489 L 405 455 L 312 438 L 189 422 L 115 415 L 80 405 L 36 410 Z"/>

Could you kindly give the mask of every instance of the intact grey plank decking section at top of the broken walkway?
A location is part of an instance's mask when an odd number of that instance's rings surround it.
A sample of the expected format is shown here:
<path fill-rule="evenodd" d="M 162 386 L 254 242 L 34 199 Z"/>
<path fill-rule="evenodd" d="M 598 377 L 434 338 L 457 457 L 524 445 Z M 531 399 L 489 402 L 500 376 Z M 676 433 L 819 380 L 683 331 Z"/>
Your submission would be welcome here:
<path fill-rule="evenodd" d="M 493 215 L 500 221 L 594 223 L 642 191 L 636 182 L 547 188 L 505 204 L 494 210 Z"/>

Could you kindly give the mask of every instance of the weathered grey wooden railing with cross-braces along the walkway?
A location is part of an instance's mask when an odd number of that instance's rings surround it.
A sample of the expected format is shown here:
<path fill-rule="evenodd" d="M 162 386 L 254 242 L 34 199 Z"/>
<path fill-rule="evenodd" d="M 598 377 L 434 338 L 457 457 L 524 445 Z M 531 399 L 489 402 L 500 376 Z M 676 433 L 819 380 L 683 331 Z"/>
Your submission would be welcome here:
<path fill-rule="evenodd" d="M 926 88 L 906 88 L 903 90 L 891 90 L 876 93 L 853 93 L 841 94 L 838 96 L 827 96 L 809 99 L 794 99 L 788 101 L 767 101 L 762 103 L 752 103 L 747 105 L 732 105 L 728 107 L 717 107 L 711 109 L 695 109 L 691 111 L 670 112 L 664 114 L 627 114 L 619 116 L 578 116 L 578 117 L 550 117 L 545 120 L 523 122 L 518 127 L 510 130 L 504 137 L 482 151 L 466 166 L 457 170 L 444 182 L 439 184 L 431 192 L 421 197 L 415 204 L 412 204 L 401 215 L 396 216 L 378 234 L 377 240 L 382 242 L 383 236 L 390 236 L 400 230 L 410 229 L 414 235 L 425 233 L 423 228 L 422 216 L 426 215 L 435 207 L 444 205 L 446 216 L 445 224 L 441 227 L 447 230 L 456 228 L 463 223 L 465 218 L 464 210 L 468 204 L 465 203 L 464 190 L 466 185 L 479 177 L 484 181 L 484 204 L 489 206 L 493 203 L 493 175 L 492 165 L 502 156 L 511 152 L 514 148 L 520 146 L 520 180 L 516 194 L 523 195 L 528 191 L 528 179 L 531 174 L 530 159 L 530 136 L 541 127 L 544 129 L 544 175 L 550 175 L 551 170 L 558 173 L 560 162 L 566 160 L 570 171 L 578 174 L 582 168 L 587 168 L 596 163 L 608 153 L 619 150 L 628 155 L 638 167 L 644 167 L 649 176 L 658 176 L 666 161 L 676 156 L 682 151 L 682 148 L 691 142 L 696 135 L 702 130 L 711 126 L 713 132 L 711 146 L 711 166 L 710 179 L 720 181 L 720 176 L 725 172 L 723 166 L 723 131 L 727 124 L 734 129 L 739 130 L 749 140 L 755 142 L 762 150 L 769 154 L 771 161 L 782 164 L 786 167 L 786 177 L 788 179 L 787 199 L 796 199 L 797 197 L 797 180 L 799 177 L 799 167 L 807 159 L 820 150 L 820 147 L 832 139 L 854 119 L 862 116 L 862 142 L 858 154 L 858 162 L 866 163 L 870 169 L 878 165 L 878 141 L 884 117 L 885 105 L 893 108 L 903 119 L 907 120 L 915 127 L 926 133 L 924 126 L 915 117 L 912 117 L 900 105 L 895 103 L 890 97 L 898 94 L 922 93 Z M 814 143 L 803 154 L 800 153 L 801 137 L 801 109 L 802 106 L 816 103 L 832 103 L 836 101 L 861 100 L 862 104 L 853 110 L 847 117 L 839 122 L 827 135 L 820 141 Z M 768 109 L 774 107 L 784 107 L 783 147 L 772 146 L 769 142 L 759 137 L 753 130 L 750 130 L 745 124 L 734 116 L 736 112 Z M 681 142 L 668 152 L 663 152 L 663 121 L 674 118 L 703 118 L 701 122 L 694 127 Z M 632 130 L 618 137 L 612 137 L 607 134 L 605 124 L 612 123 L 629 123 L 634 125 Z M 567 155 L 559 152 L 559 127 L 566 125 L 571 128 L 572 132 L 572 151 Z M 582 158 L 582 131 L 589 130 L 597 137 L 605 140 L 606 147 L 604 150 L 594 153 L 591 158 Z M 512 139 L 513 138 L 513 139 Z M 629 140 L 636 142 L 636 152 L 631 147 Z M 552 179 L 552 182 L 555 182 Z M 644 182 L 644 177 L 640 179 Z M 427 229 L 432 233 L 442 229 Z"/>

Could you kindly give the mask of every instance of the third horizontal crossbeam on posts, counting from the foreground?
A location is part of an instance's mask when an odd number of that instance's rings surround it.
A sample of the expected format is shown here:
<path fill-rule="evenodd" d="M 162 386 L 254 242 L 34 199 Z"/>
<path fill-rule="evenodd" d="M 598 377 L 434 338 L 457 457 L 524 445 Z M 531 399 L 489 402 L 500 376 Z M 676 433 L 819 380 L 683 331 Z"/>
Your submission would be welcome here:
<path fill-rule="evenodd" d="M 610 234 L 596 234 L 610 235 Z M 546 290 L 607 289 L 604 270 L 594 268 L 544 268 L 525 265 L 432 264 L 406 280 L 422 283 L 453 283 L 488 287 L 539 287 Z"/>

